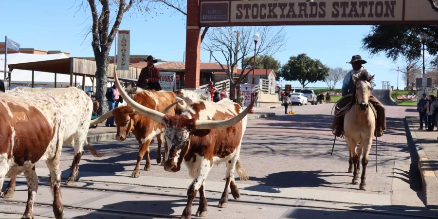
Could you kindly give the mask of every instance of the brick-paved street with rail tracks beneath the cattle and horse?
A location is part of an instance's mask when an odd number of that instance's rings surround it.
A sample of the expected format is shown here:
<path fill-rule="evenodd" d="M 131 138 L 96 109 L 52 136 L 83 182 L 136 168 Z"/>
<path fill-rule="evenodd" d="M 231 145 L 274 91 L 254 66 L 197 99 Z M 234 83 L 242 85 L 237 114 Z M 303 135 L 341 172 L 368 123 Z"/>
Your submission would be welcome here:
<path fill-rule="evenodd" d="M 355 213 L 354 217 L 365 218 L 370 211 L 379 214 L 379 218 L 400 218 L 406 214 L 438 217 L 438 212 L 425 211 L 419 172 L 410 160 L 403 119 L 407 115 L 415 116 L 415 109 L 387 107 L 388 130 L 379 138 L 378 172 L 373 146 L 366 172 L 367 190 L 361 191 L 359 185 L 350 183 L 352 174 L 347 173 L 348 152 L 343 139 L 337 141 L 330 156 L 332 107 L 332 104 L 294 106 L 295 115 L 282 114 L 283 108 L 257 109 L 275 112 L 277 116 L 248 123 L 240 154 L 250 180 L 237 184 L 243 196 L 225 209 L 216 207 L 223 190 L 225 165 L 215 165 L 206 183 L 207 217 L 351 218 Z M 94 158 L 86 153 L 82 157 L 80 181 L 62 190 L 63 202 L 71 206 L 65 217 L 93 218 L 90 215 L 96 214 L 103 218 L 178 217 L 181 214 L 185 188 L 191 180 L 184 165 L 180 172 L 169 173 L 155 164 L 156 143 L 151 145 L 151 171 L 141 170 L 139 178 L 130 178 L 138 149 L 133 138 L 93 146 L 104 156 Z M 72 149 L 65 147 L 61 158 L 63 177 L 70 173 L 72 159 Z M 145 161 L 142 168 L 144 164 Z M 45 184 L 44 176 L 48 174 L 45 164 L 37 165 L 37 173 L 43 176 L 40 181 Z M 20 184 L 16 196 L 4 203 L 11 210 L 0 209 L 0 212 L 24 211 L 24 204 L 9 201 L 25 201 L 25 189 Z M 51 200 L 47 186 L 40 186 L 37 202 L 42 209 L 36 210 L 40 212 L 36 214 L 53 217 L 51 208 L 45 206 Z M 136 201 L 135 208 L 132 201 Z M 194 212 L 196 208 L 194 204 Z M 123 216 L 124 211 L 130 212 L 129 216 Z"/>

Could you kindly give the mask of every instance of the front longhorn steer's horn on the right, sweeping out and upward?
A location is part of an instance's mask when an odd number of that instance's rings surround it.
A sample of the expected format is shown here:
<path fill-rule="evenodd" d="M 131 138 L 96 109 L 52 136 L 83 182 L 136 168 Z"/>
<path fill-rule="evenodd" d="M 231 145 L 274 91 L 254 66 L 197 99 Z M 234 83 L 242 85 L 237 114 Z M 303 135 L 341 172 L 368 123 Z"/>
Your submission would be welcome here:
<path fill-rule="evenodd" d="M 254 103 L 258 99 L 258 92 L 256 93 L 256 97 L 251 102 L 251 107 L 247 107 L 245 110 L 243 110 L 241 113 L 239 113 L 237 116 L 235 116 L 232 119 L 228 120 L 222 120 L 222 121 L 214 121 L 214 120 L 207 120 L 207 121 L 196 121 L 196 128 L 198 129 L 213 129 L 213 128 L 228 128 L 230 126 L 234 126 L 236 123 L 240 122 L 243 118 L 245 118 L 246 114 L 253 108 Z"/>

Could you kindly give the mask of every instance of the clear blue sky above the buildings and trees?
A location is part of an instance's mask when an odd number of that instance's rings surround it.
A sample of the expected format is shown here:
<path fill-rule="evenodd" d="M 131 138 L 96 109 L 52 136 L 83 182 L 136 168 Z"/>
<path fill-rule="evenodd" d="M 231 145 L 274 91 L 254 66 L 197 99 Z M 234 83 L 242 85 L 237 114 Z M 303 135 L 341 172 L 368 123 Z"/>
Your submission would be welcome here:
<path fill-rule="evenodd" d="M 82 0 L 1 0 L 0 41 L 4 36 L 17 41 L 22 48 L 61 50 L 71 56 L 93 56 L 91 37 L 87 35 L 91 26 L 88 7 L 79 9 Z M 86 3 L 85 3 L 86 4 Z M 88 6 L 88 5 L 86 5 Z M 112 12 L 114 13 L 114 12 Z M 185 50 L 185 17 L 162 9 L 164 15 L 131 12 L 123 18 L 120 29 L 131 30 L 131 55 L 151 54 L 168 61 L 183 61 Z M 368 63 L 365 67 L 376 74 L 377 88 L 382 81 L 397 86 L 397 65 L 383 54 L 370 56 L 362 49 L 361 40 L 369 33 L 370 26 L 285 26 L 286 49 L 274 55 L 282 64 L 290 56 L 306 53 L 329 67 L 350 69 L 346 64 L 352 55 L 362 55 Z M 262 39 L 261 39 L 262 40 Z M 111 48 L 113 55 L 113 47 Z M 427 54 L 426 54 L 427 55 Z M 201 61 L 208 62 L 209 53 L 201 52 Z M 283 81 L 283 84 L 286 84 Z M 289 82 L 299 86 L 298 82 Z M 309 87 L 326 87 L 324 82 L 309 84 Z M 340 84 L 337 85 L 340 87 Z M 402 76 L 399 87 L 403 88 Z"/>

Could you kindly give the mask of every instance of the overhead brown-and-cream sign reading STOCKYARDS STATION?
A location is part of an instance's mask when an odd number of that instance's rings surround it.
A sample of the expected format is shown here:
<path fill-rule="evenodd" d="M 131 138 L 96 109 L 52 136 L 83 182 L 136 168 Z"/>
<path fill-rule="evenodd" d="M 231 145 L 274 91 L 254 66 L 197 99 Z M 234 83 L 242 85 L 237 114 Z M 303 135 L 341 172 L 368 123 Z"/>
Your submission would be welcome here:
<path fill-rule="evenodd" d="M 200 26 L 438 24 L 438 0 L 201 0 Z"/>

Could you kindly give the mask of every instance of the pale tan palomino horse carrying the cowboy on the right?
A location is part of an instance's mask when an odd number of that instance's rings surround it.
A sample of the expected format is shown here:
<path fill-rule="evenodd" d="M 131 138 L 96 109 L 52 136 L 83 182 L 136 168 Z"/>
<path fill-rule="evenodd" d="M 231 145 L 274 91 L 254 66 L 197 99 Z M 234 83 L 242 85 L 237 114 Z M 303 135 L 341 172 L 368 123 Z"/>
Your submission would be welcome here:
<path fill-rule="evenodd" d="M 346 111 L 344 119 L 345 139 L 350 153 L 348 172 L 351 173 L 352 164 L 354 167 L 353 180 L 351 183 L 358 184 L 358 172 L 360 171 L 359 159 L 362 158 L 362 176 L 360 189 L 365 190 L 365 172 L 368 164 L 368 154 L 373 142 L 373 134 L 376 128 L 376 117 L 369 104 L 371 96 L 371 84 L 374 76 L 360 77 L 353 76 L 356 87 L 355 104 Z M 350 106 L 350 105 L 349 105 Z M 357 144 L 360 143 L 356 150 Z M 377 155 L 376 155 L 377 156 Z"/>

